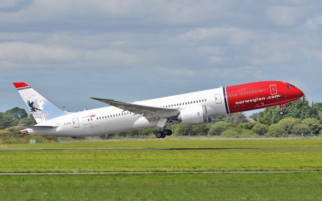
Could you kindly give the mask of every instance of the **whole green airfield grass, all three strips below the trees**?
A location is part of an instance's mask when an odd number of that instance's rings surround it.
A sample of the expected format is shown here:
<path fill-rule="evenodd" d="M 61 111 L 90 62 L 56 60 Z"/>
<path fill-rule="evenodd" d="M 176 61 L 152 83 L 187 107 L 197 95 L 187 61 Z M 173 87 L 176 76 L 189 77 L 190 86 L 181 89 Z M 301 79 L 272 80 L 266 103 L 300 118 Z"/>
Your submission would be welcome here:
<path fill-rule="evenodd" d="M 1 148 L 322 147 L 321 139 L 84 141 Z M 1 151 L 0 172 L 321 171 L 0 175 L 0 200 L 322 200 L 322 150 Z"/>

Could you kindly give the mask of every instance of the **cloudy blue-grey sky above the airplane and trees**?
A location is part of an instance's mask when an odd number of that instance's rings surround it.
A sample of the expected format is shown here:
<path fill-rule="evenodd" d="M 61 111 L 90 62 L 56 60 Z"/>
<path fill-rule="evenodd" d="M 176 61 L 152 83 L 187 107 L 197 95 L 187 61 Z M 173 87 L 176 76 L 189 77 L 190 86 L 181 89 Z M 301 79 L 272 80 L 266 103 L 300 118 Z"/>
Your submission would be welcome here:
<path fill-rule="evenodd" d="M 76 112 L 261 80 L 322 102 L 322 1 L 0 1 L 0 112 L 27 82 Z M 252 114 L 248 113 L 248 114 Z"/>

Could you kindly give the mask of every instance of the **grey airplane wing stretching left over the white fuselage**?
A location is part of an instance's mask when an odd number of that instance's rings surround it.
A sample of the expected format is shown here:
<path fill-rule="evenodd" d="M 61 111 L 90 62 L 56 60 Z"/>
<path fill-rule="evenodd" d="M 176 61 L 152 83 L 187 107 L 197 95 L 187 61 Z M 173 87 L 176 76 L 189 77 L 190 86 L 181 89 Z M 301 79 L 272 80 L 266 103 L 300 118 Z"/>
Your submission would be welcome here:
<path fill-rule="evenodd" d="M 90 98 L 99 100 L 103 103 L 109 104 L 116 108 L 120 108 L 124 111 L 129 111 L 137 115 L 142 115 L 149 122 L 159 120 L 161 118 L 168 119 L 168 118 L 177 116 L 179 113 L 179 110 L 177 108 L 151 107 L 151 106 L 143 106 L 138 104 L 120 102 L 112 99 L 104 99 L 104 98 L 97 98 L 97 97 L 90 97 Z"/>

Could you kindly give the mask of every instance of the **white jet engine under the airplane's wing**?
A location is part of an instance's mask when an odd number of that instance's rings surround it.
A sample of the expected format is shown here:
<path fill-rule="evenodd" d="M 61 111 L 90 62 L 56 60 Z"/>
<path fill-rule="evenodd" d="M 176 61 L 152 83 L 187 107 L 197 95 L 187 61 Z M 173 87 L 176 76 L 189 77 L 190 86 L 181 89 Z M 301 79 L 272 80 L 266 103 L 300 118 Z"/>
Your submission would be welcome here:
<path fill-rule="evenodd" d="M 206 106 L 193 106 L 182 109 L 178 115 L 179 122 L 185 125 L 204 124 L 212 121 L 207 114 Z"/>

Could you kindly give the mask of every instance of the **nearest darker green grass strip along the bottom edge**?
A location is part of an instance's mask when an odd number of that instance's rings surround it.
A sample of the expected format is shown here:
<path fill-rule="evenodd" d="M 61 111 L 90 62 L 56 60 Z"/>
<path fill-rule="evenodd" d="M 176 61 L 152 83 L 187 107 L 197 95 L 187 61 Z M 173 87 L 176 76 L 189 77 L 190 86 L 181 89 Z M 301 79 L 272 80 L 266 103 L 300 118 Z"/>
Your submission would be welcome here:
<path fill-rule="evenodd" d="M 322 200 L 321 173 L 0 176 L 1 200 Z"/>

